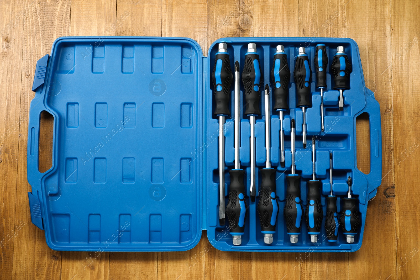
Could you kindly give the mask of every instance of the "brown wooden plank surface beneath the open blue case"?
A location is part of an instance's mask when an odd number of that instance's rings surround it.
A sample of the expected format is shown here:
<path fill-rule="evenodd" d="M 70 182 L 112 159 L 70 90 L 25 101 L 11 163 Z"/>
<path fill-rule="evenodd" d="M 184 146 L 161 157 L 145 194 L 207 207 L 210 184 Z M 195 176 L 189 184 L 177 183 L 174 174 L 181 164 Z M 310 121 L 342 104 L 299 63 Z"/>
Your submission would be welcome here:
<path fill-rule="evenodd" d="M 419 5 L 397 0 L 1 1 L 0 278 L 419 279 Z M 366 86 L 382 113 L 382 185 L 369 202 L 362 248 L 355 253 L 227 253 L 214 249 L 205 232 L 186 252 L 95 255 L 48 248 L 44 231 L 31 223 L 26 194 L 31 191 L 26 137 L 35 65 L 57 37 L 115 35 L 191 37 L 205 54 L 220 37 L 355 39 Z M 357 126 L 357 164 L 368 172 L 368 119 Z"/>

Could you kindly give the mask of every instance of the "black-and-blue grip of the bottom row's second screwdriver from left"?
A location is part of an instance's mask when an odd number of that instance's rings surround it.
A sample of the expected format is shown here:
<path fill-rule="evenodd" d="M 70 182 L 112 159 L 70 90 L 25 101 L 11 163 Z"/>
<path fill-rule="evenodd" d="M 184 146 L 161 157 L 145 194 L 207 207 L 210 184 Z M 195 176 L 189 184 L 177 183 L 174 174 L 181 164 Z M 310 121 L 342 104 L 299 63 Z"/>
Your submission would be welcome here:
<path fill-rule="evenodd" d="M 260 186 L 260 201 L 257 211 L 260 216 L 261 232 L 275 233 L 278 217 L 278 201 L 276 198 L 276 169 L 262 168 Z"/>

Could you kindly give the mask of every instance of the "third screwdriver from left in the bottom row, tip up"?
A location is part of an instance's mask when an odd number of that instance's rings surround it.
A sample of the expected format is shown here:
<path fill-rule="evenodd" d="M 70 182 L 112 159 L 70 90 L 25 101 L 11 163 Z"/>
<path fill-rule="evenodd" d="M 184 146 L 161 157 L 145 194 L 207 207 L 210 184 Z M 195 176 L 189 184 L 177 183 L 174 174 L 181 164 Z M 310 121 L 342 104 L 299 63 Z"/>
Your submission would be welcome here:
<path fill-rule="evenodd" d="M 295 121 L 291 120 L 291 174 L 286 176 L 286 204 L 284 205 L 284 219 L 286 220 L 287 234 L 290 242 L 297 243 L 302 222 L 302 204 L 300 203 L 300 176 L 294 171 L 294 134 Z"/>

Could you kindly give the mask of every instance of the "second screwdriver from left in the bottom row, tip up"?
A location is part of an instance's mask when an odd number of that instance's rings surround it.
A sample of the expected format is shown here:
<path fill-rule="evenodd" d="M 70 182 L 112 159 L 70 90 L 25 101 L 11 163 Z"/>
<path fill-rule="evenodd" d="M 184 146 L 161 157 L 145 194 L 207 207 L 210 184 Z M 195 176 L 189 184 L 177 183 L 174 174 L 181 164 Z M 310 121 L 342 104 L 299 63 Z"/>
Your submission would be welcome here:
<path fill-rule="evenodd" d="M 276 198 L 276 169 L 270 162 L 270 92 L 268 84 L 265 85 L 265 168 L 261 172 L 261 186 L 259 191 L 257 211 L 260 216 L 261 233 L 264 234 L 264 243 L 273 243 L 273 233 L 276 232 L 278 216 L 278 201 Z"/>

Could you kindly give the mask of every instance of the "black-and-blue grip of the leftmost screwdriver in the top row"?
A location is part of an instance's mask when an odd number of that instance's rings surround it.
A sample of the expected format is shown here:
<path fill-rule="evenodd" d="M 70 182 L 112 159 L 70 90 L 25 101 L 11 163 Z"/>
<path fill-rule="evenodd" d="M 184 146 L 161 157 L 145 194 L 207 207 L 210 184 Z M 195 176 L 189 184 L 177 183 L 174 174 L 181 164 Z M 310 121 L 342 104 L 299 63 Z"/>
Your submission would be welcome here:
<path fill-rule="evenodd" d="M 214 86 L 214 115 L 230 115 L 229 99 L 231 95 L 231 84 L 233 73 L 231 61 L 227 52 L 217 52 L 212 73 Z"/>

